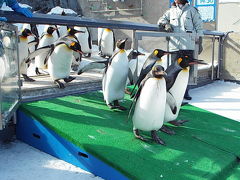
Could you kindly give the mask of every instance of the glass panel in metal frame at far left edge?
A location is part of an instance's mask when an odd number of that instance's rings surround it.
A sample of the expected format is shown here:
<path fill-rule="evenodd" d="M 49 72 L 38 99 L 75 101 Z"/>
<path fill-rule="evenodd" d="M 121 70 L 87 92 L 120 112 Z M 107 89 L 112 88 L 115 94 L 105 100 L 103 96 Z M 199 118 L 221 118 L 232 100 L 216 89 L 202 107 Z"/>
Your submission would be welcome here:
<path fill-rule="evenodd" d="M 3 123 L 19 101 L 17 37 L 11 30 L 0 31 L 0 91 Z M 1 122 L 0 122 L 1 123 Z"/>

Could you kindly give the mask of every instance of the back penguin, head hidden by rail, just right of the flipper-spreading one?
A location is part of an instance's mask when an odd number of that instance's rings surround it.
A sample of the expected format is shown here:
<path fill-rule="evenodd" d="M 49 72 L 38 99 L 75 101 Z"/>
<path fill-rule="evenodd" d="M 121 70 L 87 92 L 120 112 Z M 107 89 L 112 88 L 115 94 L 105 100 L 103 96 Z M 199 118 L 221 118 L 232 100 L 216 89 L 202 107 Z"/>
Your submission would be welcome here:
<path fill-rule="evenodd" d="M 77 27 L 75 26 L 74 29 L 83 32 L 77 33 L 76 37 L 81 45 L 82 52 L 84 53 L 85 57 L 91 57 L 92 54 L 92 37 L 90 31 L 87 27 Z"/>

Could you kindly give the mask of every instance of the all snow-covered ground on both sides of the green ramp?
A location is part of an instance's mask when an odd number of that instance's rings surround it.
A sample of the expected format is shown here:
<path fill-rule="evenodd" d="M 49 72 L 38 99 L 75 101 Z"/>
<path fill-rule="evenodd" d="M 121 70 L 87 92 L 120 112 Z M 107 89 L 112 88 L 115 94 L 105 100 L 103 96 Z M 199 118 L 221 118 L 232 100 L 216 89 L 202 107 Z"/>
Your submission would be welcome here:
<path fill-rule="evenodd" d="M 240 121 L 240 85 L 216 81 L 190 90 L 194 106 Z M 100 180 L 20 141 L 0 145 L 1 180 Z"/>

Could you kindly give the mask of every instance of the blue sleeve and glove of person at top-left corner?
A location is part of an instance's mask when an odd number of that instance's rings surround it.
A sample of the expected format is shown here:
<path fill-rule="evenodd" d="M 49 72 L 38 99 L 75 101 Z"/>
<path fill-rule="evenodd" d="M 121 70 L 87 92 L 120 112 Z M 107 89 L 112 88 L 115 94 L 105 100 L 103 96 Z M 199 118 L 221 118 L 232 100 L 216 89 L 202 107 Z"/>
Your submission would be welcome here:
<path fill-rule="evenodd" d="M 32 12 L 27 8 L 20 7 L 17 0 L 0 0 L 0 7 L 2 7 L 4 2 L 6 2 L 6 5 L 12 8 L 15 12 L 23 14 L 26 17 L 32 17 Z M 0 17 L 0 21 L 7 21 L 7 18 Z"/>

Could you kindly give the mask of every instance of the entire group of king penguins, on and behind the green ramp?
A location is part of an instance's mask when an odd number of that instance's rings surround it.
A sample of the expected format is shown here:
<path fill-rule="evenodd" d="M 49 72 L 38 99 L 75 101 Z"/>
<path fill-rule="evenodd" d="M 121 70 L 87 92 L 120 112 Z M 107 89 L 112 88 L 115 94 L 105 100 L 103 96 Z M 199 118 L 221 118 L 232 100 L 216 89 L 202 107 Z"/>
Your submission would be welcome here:
<path fill-rule="evenodd" d="M 36 41 L 35 38 L 30 42 L 27 39 L 32 35 L 30 25 L 23 27 L 19 34 L 19 59 L 20 73 L 26 81 L 33 81 L 27 76 L 26 71 L 28 63 L 35 58 L 36 74 L 40 74 L 39 69 L 47 68 L 54 83 L 59 88 L 64 88 L 64 84 L 60 82 L 61 79 L 66 83 L 75 79 L 70 76 L 73 62 L 81 61 L 82 56 L 91 56 L 92 42 L 86 27 L 69 27 L 61 36 L 59 27 L 48 25 L 39 40 Z M 57 40 L 53 35 L 54 32 L 57 32 Z M 85 39 L 81 39 L 80 35 L 86 32 Z M 104 101 L 110 109 L 122 111 L 127 108 L 121 106 L 119 101 L 124 99 L 127 79 L 129 79 L 130 84 L 135 84 L 130 93 L 133 101 L 129 109 L 135 137 L 146 141 L 147 138 L 143 137 L 140 131 L 149 131 L 156 143 L 164 145 L 157 131 L 175 134 L 173 130 L 164 126 L 164 123 L 180 126 L 186 122 L 186 120 L 177 121 L 176 118 L 188 84 L 189 66 L 197 63 L 204 64 L 204 62 L 181 54 L 180 51 L 166 52 L 155 49 L 145 60 L 140 75 L 134 83 L 129 62 L 143 54 L 132 50 L 127 55 L 126 41 L 127 39 L 123 39 L 115 43 L 113 31 L 108 28 L 103 29 L 99 41 L 99 55 L 106 60 L 95 61 L 83 68 L 78 68 L 78 74 L 94 68 L 104 69 L 102 79 Z M 36 49 L 32 51 L 29 44 L 33 44 L 31 47 L 35 46 Z M 180 56 L 165 70 L 162 66 L 162 57 L 174 53 Z"/>

